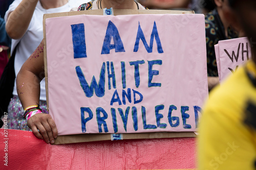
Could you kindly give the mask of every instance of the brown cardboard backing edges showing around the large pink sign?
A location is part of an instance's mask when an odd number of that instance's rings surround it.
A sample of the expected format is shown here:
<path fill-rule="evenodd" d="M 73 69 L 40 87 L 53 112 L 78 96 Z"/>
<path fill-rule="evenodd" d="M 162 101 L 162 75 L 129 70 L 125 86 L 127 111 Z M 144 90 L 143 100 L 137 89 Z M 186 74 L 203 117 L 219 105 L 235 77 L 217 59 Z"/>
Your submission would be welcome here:
<path fill-rule="evenodd" d="M 179 11 L 179 10 L 117 10 L 114 9 L 114 15 L 131 15 L 131 14 L 195 14 L 194 11 Z M 44 14 L 44 64 L 45 64 L 45 80 L 46 80 L 46 98 L 47 108 L 49 111 L 49 98 L 48 98 L 48 73 L 47 73 L 47 52 L 46 52 L 46 19 L 52 17 L 61 16 L 73 16 L 73 15 L 103 15 L 103 9 L 88 10 L 88 11 L 72 11 Z M 123 140 L 125 139 L 153 139 L 153 138 L 177 138 L 177 137 L 196 137 L 194 132 L 151 132 L 151 133 L 125 133 Z M 76 134 L 76 135 L 63 135 L 58 136 L 54 144 L 66 144 L 66 143 L 78 143 L 78 142 L 92 142 L 92 141 L 104 141 L 111 140 L 111 134 Z"/>

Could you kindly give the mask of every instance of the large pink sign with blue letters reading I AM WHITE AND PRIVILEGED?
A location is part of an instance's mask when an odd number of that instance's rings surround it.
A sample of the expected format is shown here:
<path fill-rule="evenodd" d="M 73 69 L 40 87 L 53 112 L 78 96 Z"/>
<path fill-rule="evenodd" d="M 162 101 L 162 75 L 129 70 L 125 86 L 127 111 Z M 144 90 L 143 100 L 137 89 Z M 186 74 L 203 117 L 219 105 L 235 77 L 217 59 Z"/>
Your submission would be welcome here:
<path fill-rule="evenodd" d="M 46 19 L 59 135 L 196 131 L 208 95 L 204 15 Z"/>

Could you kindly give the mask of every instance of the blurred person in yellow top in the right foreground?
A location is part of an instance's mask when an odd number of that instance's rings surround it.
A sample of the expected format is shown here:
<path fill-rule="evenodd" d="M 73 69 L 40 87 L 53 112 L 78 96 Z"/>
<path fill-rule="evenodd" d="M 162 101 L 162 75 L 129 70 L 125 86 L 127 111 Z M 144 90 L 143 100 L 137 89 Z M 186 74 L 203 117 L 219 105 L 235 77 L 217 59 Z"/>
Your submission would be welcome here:
<path fill-rule="evenodd" d="M 229 0 L 225 17 L 256 54 L 256 1 Z M 253 45 L 254 44 L 254 45 Z M 256 169 L 256 59 L 211 91 L 200 120 L 198 169 Z"/>

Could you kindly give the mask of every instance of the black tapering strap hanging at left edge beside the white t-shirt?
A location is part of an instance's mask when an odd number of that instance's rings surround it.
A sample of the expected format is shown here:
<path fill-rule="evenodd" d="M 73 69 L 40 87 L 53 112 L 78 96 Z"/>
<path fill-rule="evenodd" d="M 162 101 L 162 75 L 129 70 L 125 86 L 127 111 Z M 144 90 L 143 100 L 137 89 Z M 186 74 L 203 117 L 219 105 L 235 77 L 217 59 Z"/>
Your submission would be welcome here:
<path fill-rule="evenodd" d="M 12 56 L 5 66 L 3 75 L 0 79 L 0 117 L 4 115 L 4 112 L 7 112 L 8 105 L 13 97 L 12 92 L 16 77 L 14 70 L 14 59 L 18 44 L 15 46 Z"/>

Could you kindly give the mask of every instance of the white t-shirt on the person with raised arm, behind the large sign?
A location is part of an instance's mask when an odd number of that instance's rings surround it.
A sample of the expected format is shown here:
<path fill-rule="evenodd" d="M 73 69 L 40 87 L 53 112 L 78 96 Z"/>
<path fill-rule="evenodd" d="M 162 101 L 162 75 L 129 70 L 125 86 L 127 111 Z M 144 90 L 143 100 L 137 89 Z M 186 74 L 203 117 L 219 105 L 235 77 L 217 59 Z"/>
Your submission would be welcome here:
<path fill-rule="evenodd" d="M 22 2 L 22 0 L 15 0 L 10 5 L 9 9 L 5 14 L 5 21 L 7 21 L 7 17 L 9 13 L 14 11 L 20 2 Z M 14 69 L 15 69 L 16 77 L 23 63 L 36 50 L 37 46 L 40 44 L 41 40 L 44 37 L 43 25 L 42 25 L 42 19 L 44 14 L 57 13 L 57 12 L 69 12 L 72 8 L 79 7 L 81 4 L 84 4 L 87 2 L 89 1 L 88 0 L 69 0 L 69 2 L 66 5 L 63 5 L 62 7 L 51 8 L 46 10 L 42 8 L 41 3 L 38 1 L 34 14 L 31 19 L 31 22 L 29 24 L 28 30 L 26 31 L 25 35 L 20 39 L 16 39 L 16 40 L 12 39 L 11 54 L 14 51 L 14 47 L 18 44 L 18 42 L 20 42 L 17 47 L 15 60 L 14 60 Z M 24 7 L 24 10 L 27 10 L 27 9 Z M 40 100 L 46 101 L 45 79 L 41 81 L 40 86 L 41 86 Z M 17 95 L 16 80 L 14 83 L 13 95 Z"/>

